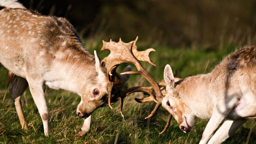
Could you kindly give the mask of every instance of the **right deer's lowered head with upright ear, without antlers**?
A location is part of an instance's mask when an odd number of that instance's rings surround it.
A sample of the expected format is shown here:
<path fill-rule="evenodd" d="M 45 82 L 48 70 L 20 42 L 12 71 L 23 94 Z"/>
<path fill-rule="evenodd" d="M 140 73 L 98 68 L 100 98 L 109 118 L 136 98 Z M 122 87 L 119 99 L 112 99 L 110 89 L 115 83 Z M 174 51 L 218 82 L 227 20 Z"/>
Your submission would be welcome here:
<path fill-rule="evenodd" d="M 175 79 L 170 65 L 166 65 L 164 68 L 164 81 L 166 93 L 162 100 L 162 106 L 174 117 L 183 132 L 190 132 L 194 128 L 194 116 L 180 98 L 179 91 L 175 89 Z"/>

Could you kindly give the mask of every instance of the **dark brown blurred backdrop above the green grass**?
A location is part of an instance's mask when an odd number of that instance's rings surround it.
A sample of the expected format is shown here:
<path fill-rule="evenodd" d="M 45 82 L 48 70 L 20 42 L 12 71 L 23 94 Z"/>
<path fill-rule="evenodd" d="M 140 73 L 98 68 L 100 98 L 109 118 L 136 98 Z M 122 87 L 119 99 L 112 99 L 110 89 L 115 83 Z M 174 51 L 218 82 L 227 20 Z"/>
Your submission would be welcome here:
<path fill-rule="evenodd" d="M 219 49 L 256 40 L 255 0 L 19 0 L 66 17 L 86 39 L 134 40 L 173 48 Z"/>

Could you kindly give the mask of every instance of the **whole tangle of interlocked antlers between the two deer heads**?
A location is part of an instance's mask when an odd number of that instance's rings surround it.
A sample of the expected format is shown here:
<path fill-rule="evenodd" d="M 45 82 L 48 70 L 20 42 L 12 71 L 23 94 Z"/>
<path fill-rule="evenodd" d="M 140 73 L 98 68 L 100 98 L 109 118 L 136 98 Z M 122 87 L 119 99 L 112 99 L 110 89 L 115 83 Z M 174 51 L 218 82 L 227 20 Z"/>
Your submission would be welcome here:
<path fill-rule="evenodd" d="M 123 43 L 121 41 L 121 38 L 118 43 L 113 42 L 110 40 L 110 42 L 104 42 L 103 41 L 103 47 L 101 51 L 103 50 L 110 50 L 110 54 L 105 57 L 101 61 L 101 65 L 105 64 L 105 68 L 107 71 L 107 76 L 109 79 L 109 84 L 108 84 L 108 105 L 111 109 L 111 90 L 114 86 L 115 82 L 115 71 L 118 67 L 119 64 L 121 63 L 133 63 L 138 71 L 128 71 L 121 73 L 122 74 L 136 74 L 136 75 L 141 75 L 145 77 L 149 83 L 152 85 L 152 87 L 132 87 L 129 88 L 126 91 L 121 91 L 120 92 L 120 113 L 123 116 L 123 99 L 124 97 L 128 96 L 129 94 L 133 92 L 143 92 L 147 95 L 150 95 L 147 98 L 144 99 L 135 99 L 137 102 L 145 102 L 145 101 L 155 101 L 157 104 L 154 107 L 154 110 L 151 112 L 151 114 L 146 117 L 145 119 L 151 118 L 154 116 L 154 114 L 157 112 L 159 107 L 161 106 L 162 98 L 164 97 L 160 87 L 165 86 L 165 82 L 160 82 L 157 83 L 154 78 L 142 67 L 141 63 L 139 61 L 145 61 L 150 63 L 153 66 L 156 66 L 149 58 L 149 53 L 152 51 L 155 51 L 154 49 L 148 49 L 146 51 L 139 52 L 137 51 L 137 46 L 136 42 L 138 40 L 138 37 L 136 38 L 135 41 L 132 41 L 130 43 Z M 124 117 L 124 116 L 123 116 Z M 164 130 L 161 132 L 163 133 L 169 126 L 170 121 L 171 121 L 172 116 L 169 115 L 167 124 L 164 128 Z M 160 134 L 161 134 L 160 133 Z"/>

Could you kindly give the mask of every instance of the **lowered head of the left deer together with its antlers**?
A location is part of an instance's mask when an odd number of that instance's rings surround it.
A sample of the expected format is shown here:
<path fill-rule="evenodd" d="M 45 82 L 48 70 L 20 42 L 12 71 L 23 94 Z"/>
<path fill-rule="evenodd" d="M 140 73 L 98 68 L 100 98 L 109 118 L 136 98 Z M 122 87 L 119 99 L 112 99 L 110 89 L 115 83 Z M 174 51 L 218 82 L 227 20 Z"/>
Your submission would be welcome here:
<path fill-rule="evenodd" d="M 118 43 L 103 41 L 103 46 L 101 51 L 110 50 L 110 54 L 105 57 L 102 61 L 97 56 L 96 51 L 95 55 L 95 69 L 97 71 L 97 76 L 95 78 L 95 83 L 90 84 L 89 87 L 84 93 L 89 93 L 90 95 L 81 96 L 82 100 L 77 107 L 77 115 L 80 118 L 87 118 L 95 111 L 98 107 L 109 105 L 111 109 L 111 104 L 115 103 L 117 100 L 120 100 L 120 113 L 123 116 L 122 107 L 123 99 L 132 92 L 136 92 L 136 88 L 130 88 L 126 91 L 122 91 L 125 82 L 129 79 L 130 74 L 139 74 L 145 77 L 154 87 L 156 95 L 162 97 L 160 88 L 158 87 L 155 80 L 149 75 L 149 73 L 142 67 L 139 61 L 146 61 L 156 66 L 150 59 L 149 53 L 155 51 L 154 49 L 148 49 L 143 52 L 138 52 L 136 47 L 136 41 L 130 43 L 124 43 L 120 39 Z M 123 73 L 116 73 L 116 69 L 121 63 L 133 63 L 138 71 L 131 72 L 131 66 L 126 67 Z M 155 96 L 152 95 L 152 98 L 156 100 Z"/>

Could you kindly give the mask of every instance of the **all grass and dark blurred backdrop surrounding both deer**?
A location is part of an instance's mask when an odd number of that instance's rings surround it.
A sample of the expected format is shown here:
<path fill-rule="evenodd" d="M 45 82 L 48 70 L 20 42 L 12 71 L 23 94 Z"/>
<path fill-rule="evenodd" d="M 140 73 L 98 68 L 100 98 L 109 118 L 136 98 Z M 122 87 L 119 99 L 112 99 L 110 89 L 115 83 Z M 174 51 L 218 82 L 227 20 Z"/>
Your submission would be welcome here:
<path fill-rule="evenodd" d="M 244 45 L 256 41 L 256 2 L 248 1 L 78 1 L 78 0 L 21 0 L 32 10 L 42 14 L 63 16 L 77 28 L 89 52 L 102 47 L 102 39 L 130 42 L 138 35 L 138 49 L 154 48 L 150 57 L 157 67 L 142 65 L 157 80 L 163 79 L 163 69 L 170 64 L 179 75 L 187 77 L 210 72 L 224 56 Z M 101 58 L 108 52 L 99 53 Z M 118 71 L 127 66 L 122 64 Z M 167 120 L 161 108 L 151 119 L 155 103 L 136 103 L 136 93 L 124 102 L 123 119 L 119 114 L 118 102 L 114 109 L 103 107 L 92 116 L 90 132 L 82 137 L 74 135 L 83 124 L 75 114 L 80 97 L 64 90 L 45 87 L 50 111 L 51 136 L 43 136 L 43 126 L 29 89 L 22 97 L 26 122 L 30 131 L 21 129 L 15 107 L 9 97 L 7 70 L 0 68 L 0 143 L 198 143 L 207 120 L 197 120 L 190 133 L 183 133 L 175 120 L 162 135 Z M 148 85 L 140 76 L 131 76 L 125 88 Z M 245 143 L 251 121 L 241 127 L 225 143 Z M 256 130 L 256 129 L 255 129 Z M 249 143 L 256 140 L 255 130 Z"/>

